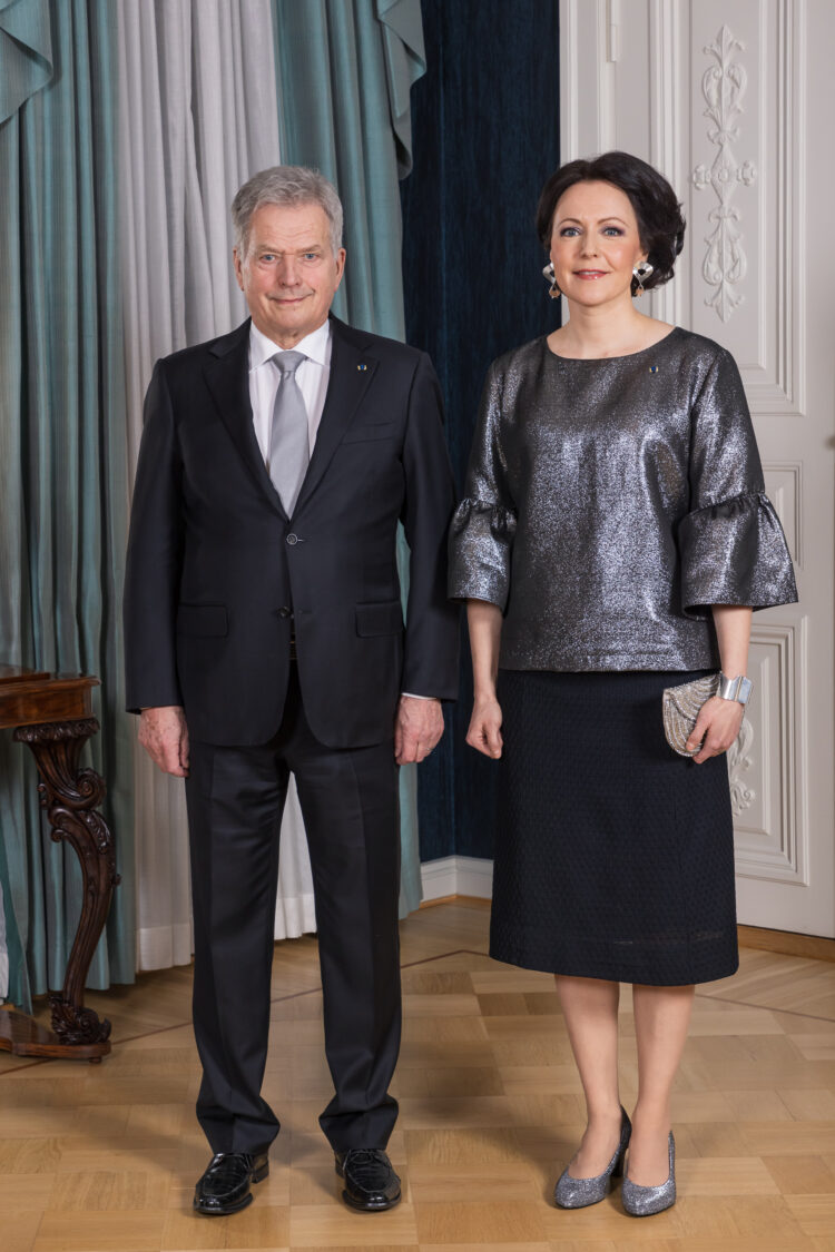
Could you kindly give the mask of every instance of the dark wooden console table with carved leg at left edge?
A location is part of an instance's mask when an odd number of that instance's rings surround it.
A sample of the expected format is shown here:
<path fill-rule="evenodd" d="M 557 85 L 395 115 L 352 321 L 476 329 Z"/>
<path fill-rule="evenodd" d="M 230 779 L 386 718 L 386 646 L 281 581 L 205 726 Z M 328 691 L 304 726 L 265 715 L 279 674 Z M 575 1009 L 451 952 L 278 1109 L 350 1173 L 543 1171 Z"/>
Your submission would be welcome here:
<path fill-rule="evenodd" d="M 78 853 L 84 880 L 81 916 L 66 965 L 64 987 L 50 992 L 53 1029 L 26 1013 L 0 1005 L 0 1050 L 21 1057 L 64 1057 L 100 1062 L 110 1052 L 110 1023 L 84 1007 L 84 984 L 119 883 L 113 835 L 98 808 L 104 781 L 79 769 L 81 749 L 99 729 L 93 716 L 93 687 L 99 680 L 81 675 L 40 674 L 0 665 L 0 729 L 31 749 L 41 781 L 55 843 Z"/>

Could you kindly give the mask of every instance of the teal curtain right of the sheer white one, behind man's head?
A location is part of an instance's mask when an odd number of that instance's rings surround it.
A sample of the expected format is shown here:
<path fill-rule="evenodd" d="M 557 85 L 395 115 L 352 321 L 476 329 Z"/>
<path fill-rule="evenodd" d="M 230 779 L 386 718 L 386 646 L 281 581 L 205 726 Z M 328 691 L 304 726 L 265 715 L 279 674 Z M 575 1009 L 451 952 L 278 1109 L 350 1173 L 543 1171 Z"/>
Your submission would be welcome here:
<path fill-rule="evenodd" d="M 426 71 L 419 0 L 273 0 L 273 14 L 282 159 L 322 170 L 346 210 L 334 313 L 403 339 L 398 179 L 412 168 L 409 89 Z M 398 558 L 406 592 L 402 533 Z M 401 828 L 404 914 L 421 900 L 413 765 L 401 770 Z"/>

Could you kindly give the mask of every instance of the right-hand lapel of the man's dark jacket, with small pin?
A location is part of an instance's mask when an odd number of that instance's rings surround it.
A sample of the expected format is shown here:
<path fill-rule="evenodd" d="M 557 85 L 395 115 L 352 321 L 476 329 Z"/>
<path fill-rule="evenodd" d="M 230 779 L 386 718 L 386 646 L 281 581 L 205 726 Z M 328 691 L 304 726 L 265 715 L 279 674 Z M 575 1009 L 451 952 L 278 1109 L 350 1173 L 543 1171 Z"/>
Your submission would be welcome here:
<path fill-rule="evenodd" d="M 364 337 L 336 317 L 330 318 L 330 379 L 313 456 L 294 512 L 319 486 L 377 368 L 374 358 L 363 351 Z"/>

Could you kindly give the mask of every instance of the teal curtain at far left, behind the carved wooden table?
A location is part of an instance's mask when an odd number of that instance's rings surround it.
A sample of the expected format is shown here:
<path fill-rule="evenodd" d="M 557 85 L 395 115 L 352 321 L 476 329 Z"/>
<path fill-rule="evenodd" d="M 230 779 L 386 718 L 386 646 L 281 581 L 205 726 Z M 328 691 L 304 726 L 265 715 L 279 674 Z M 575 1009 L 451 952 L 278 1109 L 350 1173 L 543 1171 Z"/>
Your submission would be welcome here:
<path fill-rule="evenodd" d="M 91 764 L 121 886 L 89 985 L 134 978 L 131 749 L 121 712 L 126 452 L 116 235 L 115 9 L 0 3 L 0 660 L 101 679 Z M 0 734 L 9 998 L 60 987 L 80 908 L 28 749 Z"/>

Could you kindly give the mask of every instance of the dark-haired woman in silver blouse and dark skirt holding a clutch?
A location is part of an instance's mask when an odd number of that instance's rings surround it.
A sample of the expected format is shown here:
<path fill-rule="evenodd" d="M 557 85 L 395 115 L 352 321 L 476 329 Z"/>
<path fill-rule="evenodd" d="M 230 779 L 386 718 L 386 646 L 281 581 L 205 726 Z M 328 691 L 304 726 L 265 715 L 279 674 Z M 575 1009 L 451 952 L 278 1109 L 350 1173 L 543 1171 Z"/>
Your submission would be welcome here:
<path fill-rule="evenodd" d="M 751 610 L 796 591 L 734 359 L 633 304 L 681 250 L 670 184 L 625 153 L 572 162 L 537 229 L 570 321 L 488 372 L 449 592 L 467 600 L 467 741 L 499 762 L 491 954 L 556 974 L 586 1096 L 555 1199 L 602 1199 L 628 1144 L 622 1202 L 647 1216 L 675 1202 L 670 1090 L 694 984 L 737 965 L 724 754 L 750 690 Z M 677 755 L 662 692 L 720 669 Z"/>

